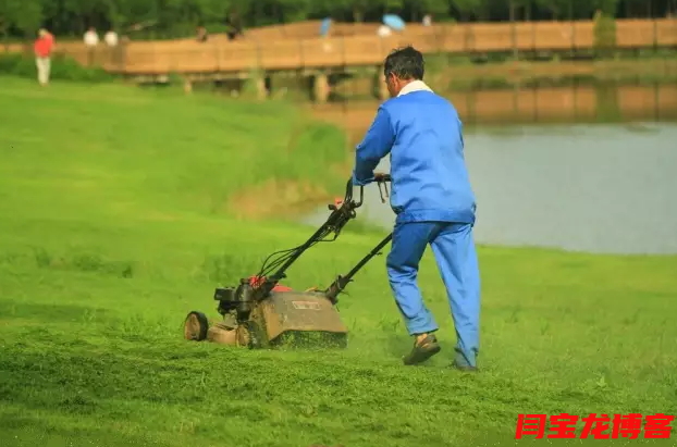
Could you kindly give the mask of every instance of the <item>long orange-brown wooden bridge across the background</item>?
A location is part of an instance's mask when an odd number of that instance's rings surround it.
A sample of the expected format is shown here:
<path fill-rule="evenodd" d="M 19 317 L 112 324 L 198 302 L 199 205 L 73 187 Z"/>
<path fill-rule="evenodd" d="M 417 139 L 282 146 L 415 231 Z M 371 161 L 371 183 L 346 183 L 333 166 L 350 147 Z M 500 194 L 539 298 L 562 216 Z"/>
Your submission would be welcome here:
<path fill-rule="evenodd" d="M 261 73 L 295 72 L 316 77 L 316 95 L 327 87 L 327 75 L 353 67 L 378 67 L 395 47 L 413 45 L 423 53 L 477 54 L 490 52 L 581 52 L 596 48 L 593 21 L 513 22 L 479 24 L 409 24 L 389 37 L 377 35 L 378 24 L 333 24 L 319 36 L 320 22 L 251 29 L 244 39 L 211 36 L 195 39 L 130 41 L 110 50 L 87 50 L 82 41 L 57 41 L 58 51 L 83 64 L 133 76 L 185 79 L 253 78 Z M 677 48 L 677 20 L 618 20 L 612 48 Z M 2 47 L 0 47 L 2 48 Z M 608 48 L 608 46 L 607 46 Z M 5 51 L 30 51 L 5 47 Z"/>

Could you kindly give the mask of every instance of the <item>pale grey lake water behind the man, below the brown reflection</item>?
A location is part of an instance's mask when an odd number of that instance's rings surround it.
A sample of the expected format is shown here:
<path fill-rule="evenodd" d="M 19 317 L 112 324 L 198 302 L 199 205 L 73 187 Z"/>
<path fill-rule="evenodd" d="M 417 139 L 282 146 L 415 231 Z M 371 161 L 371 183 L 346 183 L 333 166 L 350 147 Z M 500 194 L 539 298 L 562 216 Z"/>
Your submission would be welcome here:
<path fill-rule="evenodd" d="M 677 253 L 676 124 L 478 127 L 465 140 L 477 243 Z M 387 172 L 387 159 L 379 170 Z M 365 196 L 358 219 L 391 229 L 378 187 Z M 328 215 L 322 207 L 304 221 Z"/>

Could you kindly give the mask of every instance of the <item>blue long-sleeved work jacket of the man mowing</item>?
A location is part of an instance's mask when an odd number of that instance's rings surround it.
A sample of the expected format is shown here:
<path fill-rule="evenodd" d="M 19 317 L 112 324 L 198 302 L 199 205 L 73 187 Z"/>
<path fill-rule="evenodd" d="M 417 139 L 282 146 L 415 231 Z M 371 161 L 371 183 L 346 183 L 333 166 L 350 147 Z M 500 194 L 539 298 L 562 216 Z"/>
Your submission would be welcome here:
<path fill-rule="evenodd" d="M 463 124 L 448 100 L 424 88 L 379 107 L 356 148 L 353 184 L 373 182 L 374 169 L 390 153 L 391 207 L 396 222 L 475 224 L 476 199 L 465 163 Z"/>

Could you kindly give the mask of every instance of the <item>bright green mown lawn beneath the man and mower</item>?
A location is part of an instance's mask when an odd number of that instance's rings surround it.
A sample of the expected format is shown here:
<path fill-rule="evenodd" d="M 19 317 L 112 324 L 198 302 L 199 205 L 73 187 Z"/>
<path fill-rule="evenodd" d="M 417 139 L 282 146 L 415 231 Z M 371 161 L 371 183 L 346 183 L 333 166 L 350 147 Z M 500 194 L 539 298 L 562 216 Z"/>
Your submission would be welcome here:
<path fill-rule="evenodd" d="M 342 136 L 284 103 L 115 85 L 0 78 L 0 105 L 2 446 L 514 445 L 518 413 L 677 413 L 674 257 L 480 247 L 477 375 L 447 368 L 430 253 L 443 351 L 424 367 L 401 364 L 383 258 L 342 297 L 345 351 L 187 343 L 188 311 L 217 316 L 214 286 L 312 232 L 222 203 L 273 176 L 341 194 L 323 166 L 345 159 Z M 317 246 L 288 284 L 328 285 L 380 237 Z"/>

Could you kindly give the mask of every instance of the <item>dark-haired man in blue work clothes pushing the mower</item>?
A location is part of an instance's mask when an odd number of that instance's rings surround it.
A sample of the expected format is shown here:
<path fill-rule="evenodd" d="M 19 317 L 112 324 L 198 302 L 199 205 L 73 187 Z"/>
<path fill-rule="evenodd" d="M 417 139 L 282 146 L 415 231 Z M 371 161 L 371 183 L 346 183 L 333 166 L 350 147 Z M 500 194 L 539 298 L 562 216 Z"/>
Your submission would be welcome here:
<path fill-rule="evenodd" d="M 421 363 L 441 350 L 434 334 L 438 324 L 417 284 L 419 262 L 430 245 L 456 328 L 453 365 L 477 371 L 480 274 L 472 236 L 477 207 L 465 163 L 463 124 L 454 105 L 423 83 L 423 57 L 413 47 L 394 50 L 385 59 L 391 99 L 379 107 L 356 148 L 353 184 L 382 178 L 374 169 L 390 153 L 396 220 L 386 270 L 415 338 L 404 363 Z"/>

